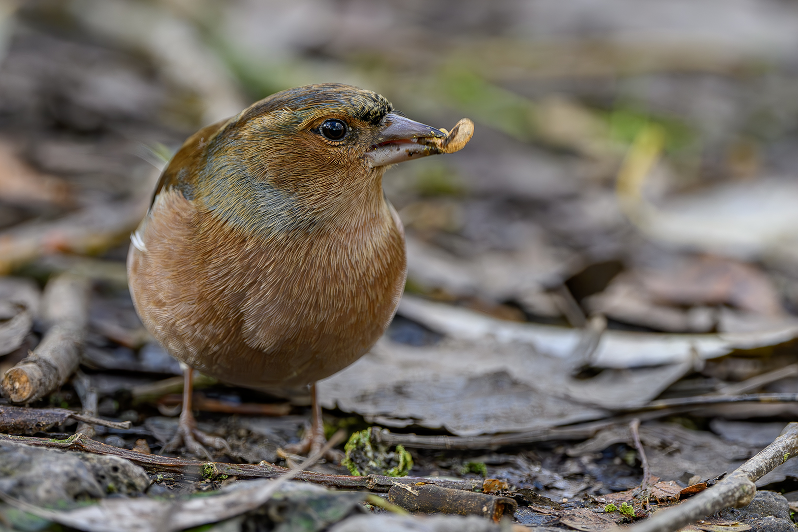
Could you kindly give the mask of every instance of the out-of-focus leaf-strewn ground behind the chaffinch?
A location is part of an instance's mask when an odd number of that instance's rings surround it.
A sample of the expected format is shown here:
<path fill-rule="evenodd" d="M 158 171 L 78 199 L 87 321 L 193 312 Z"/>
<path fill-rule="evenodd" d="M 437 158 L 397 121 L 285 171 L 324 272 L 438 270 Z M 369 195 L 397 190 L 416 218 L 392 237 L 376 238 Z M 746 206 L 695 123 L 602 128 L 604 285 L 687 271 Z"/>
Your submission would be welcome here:
<path fill-rule="evenodd" d="M 476 122 L 462 153 L 385 179 L 409 292 L 666 332 L 757 330 L 798 309 L 793 2 L 0 6 L 6 272 L 53 252 L 122 260 L 185 137 L 342 81 L 432 125 Z"/>

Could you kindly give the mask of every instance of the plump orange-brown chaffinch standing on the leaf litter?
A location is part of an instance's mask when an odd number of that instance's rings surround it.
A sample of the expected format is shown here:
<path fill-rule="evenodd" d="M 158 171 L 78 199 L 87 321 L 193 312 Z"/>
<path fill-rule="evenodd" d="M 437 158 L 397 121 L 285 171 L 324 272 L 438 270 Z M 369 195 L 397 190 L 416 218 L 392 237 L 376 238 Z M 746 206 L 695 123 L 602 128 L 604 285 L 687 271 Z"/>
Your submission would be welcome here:
<path fill-rule="evenodd" d="M 128 280 L 144 325 L 189 367 L 243 386 L 314 383 L 354 362 L 405 283 L 382 175 L 441 153 L 429 141 L 443 137 L 338 84 L 276 93 L 200 129 L 132 236 Z M 190 451 L 201 448 L 192 435 L 218 447 L 192 427 L 188 399 L 179 436 Z"/>

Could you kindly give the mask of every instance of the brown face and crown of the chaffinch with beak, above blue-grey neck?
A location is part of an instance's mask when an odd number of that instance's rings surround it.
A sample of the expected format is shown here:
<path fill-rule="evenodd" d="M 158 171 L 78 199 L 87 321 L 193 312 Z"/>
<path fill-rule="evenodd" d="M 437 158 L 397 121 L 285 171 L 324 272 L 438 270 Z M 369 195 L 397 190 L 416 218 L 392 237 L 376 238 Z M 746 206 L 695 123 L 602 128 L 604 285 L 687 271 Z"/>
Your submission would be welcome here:
<path fill-rule="evenodd" d="M 313 177 L 381 175 L 388 165 L 440 153 L 418 140 L 446 136 L 397 113 L 380 94 L 338 83 L 275 93 L 225 129 L 220 138 L 235 141 L 271 181 L 289 188 Z"/>

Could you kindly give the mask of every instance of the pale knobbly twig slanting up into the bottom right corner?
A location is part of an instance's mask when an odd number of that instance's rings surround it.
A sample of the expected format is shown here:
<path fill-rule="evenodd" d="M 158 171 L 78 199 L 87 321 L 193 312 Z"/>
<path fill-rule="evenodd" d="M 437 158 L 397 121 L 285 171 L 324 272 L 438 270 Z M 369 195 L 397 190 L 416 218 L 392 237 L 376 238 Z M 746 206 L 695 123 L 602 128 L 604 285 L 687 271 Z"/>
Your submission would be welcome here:
<path fill-rule="evenodd" d="M 765 474 L 798 453 L 798 423 L 790 423 L 776 441 L 757 453 L 732 474 L 678 506 L 662 510 L 646 521 L 638 522 L 628 532 L 673 532 L 682 526 L 714 514 L 728 506 L 748 505 L 757 493 L 757 482 Z"/>

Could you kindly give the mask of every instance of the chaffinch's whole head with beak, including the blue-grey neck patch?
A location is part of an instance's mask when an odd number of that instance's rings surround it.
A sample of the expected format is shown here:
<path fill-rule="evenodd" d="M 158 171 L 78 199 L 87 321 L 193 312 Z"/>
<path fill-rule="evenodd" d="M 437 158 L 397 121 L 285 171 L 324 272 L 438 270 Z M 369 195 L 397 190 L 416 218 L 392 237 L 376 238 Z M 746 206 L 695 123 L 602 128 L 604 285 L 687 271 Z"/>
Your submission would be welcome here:
<path fill-rule="evenodd" d="M 385 169 L 443 153 L 426 141 L 444 137 L 397 113 L 370 90 L 305 85 L 244 109 L 203 137 L 201 147 L 195 141 L 189 157 L 196 185 L 189 188 L 227 220 L 255 220 L 261 214 L 272 226 L 291 216 L 306 218 L 308 212 L 320 220 L 351 212 L 369 198 L 382 201 Z M 178 169 L 180 157 L 170 167 Z"/>

